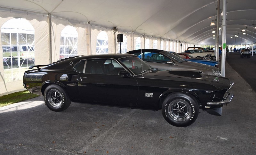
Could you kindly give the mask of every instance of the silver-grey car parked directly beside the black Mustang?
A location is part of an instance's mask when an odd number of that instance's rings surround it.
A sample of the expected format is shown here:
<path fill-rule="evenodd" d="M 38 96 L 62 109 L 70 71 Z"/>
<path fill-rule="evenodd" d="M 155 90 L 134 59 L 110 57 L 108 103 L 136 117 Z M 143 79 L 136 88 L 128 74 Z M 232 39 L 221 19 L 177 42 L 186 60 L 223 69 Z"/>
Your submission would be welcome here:
<path fill-rule="evenodd" d="M 140 59 L 147 62 L 151 67 L 158 68 L 160 70 L 171 69 L 197 69 L 205 74 L 220 76 L 221 72 L 219 68 L 212 67 L 205 64 L 186 61 L 170 52 L 156 49 L 140 49 L 133 50 L 127 53 L 135 54 Z"/>

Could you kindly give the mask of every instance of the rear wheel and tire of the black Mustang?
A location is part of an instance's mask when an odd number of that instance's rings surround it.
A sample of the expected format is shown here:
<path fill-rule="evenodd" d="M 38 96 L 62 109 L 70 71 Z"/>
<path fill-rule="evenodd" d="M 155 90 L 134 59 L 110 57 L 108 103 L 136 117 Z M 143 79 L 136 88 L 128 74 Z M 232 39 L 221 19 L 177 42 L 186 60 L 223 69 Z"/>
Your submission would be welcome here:
<path fill-rule="evenodd" d="M 44 102 L 52 111 L 63 111 L 71 103 L 66 91 L 58 85 L 50 85 L 45 89 Z"/>

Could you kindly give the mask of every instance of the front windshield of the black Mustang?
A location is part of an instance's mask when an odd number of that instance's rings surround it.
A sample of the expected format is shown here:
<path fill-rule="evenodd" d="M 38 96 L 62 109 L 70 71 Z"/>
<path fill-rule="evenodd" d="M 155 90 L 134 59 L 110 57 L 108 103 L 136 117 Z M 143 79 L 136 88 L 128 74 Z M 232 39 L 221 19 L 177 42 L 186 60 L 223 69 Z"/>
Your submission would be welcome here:
<path fill-rule="evenodd" d="M 147 63 L 142 61 L 137 56 L 120 58 L 119 60 L 124 64 L 124 66 L 130 69 L 130 71 L 134 75 L 139 75 L 144 71 L 152 69 L 152 67 L 150 67 Z M 142 61 L 142 66 L 141 66 L 141 61 Z"/>

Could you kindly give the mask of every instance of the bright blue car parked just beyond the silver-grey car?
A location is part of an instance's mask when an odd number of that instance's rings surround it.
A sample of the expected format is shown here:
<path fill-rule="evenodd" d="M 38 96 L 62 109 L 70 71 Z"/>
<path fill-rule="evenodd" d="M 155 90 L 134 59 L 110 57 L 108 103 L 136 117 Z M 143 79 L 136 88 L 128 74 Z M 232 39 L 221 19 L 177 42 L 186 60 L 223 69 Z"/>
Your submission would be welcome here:
<path fill-rule="evenodd" d="M 186 61 L 191 61 L 191 62 L 197 62 L 197 63 L 202 63 L 202 64 L 206 64 L 209 66 L 214 66 L 214 67 L 219 67 L 219 63 L 218 61 L 214 61 L 214 60 L 203 60 L 203 59 L 197 59 L 189 54 L 186 53 L 175 53 L 175 52 L 170 52 L 175 54 L 176 56 L 180 56 L 182 59 L 186 60 Z"/>

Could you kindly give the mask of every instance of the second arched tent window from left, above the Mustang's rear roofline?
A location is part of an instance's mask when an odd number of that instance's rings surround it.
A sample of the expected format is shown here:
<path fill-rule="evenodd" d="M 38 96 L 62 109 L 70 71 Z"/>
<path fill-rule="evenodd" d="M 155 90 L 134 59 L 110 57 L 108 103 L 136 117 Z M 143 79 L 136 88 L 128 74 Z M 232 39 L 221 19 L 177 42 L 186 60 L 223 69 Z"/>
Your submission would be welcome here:
<path fill-rule="evenodd" d="M 66 26 L 60 34 L 60 59 L 77 55 L 78 33 L 74 26 Z"/>

